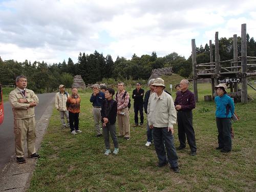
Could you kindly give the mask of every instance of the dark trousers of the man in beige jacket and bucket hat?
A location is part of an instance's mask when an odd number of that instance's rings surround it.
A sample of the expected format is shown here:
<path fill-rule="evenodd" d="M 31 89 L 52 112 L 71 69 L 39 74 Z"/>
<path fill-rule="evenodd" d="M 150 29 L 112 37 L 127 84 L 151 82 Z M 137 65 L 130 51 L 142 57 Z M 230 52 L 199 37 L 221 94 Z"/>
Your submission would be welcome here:
<path fill-rule="evenodd" d="M 161 164 L 167 161 L 167 153 L 170 166 L 178 167 L 174 136 L 171 131 L 168 132 L 168 127 L 153 127 L 153 138 L 159 163 Z"/>

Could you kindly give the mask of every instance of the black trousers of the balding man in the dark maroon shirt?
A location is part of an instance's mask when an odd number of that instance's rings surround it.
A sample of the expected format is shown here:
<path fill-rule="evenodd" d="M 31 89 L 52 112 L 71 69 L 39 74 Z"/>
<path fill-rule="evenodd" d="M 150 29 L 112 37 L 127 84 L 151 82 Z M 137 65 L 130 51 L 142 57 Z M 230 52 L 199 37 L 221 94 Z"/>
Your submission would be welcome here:
<path fill-rule="evenodd" d="M 193 114 L 192 111 L 178 111 L 178 136 L 180 146 L 186 146 L 186 138 L 191 152 L 197 151 L 195 131 L 193 128 Z"/>

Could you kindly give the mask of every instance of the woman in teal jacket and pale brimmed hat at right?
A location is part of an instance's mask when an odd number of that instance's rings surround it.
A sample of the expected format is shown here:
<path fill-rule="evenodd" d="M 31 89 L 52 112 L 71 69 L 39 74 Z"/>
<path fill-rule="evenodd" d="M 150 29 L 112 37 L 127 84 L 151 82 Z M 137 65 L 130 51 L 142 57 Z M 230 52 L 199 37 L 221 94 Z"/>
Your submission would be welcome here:
<path fill-rule="evenodd" d="M 221 150 L 222 153 L 231 151 L 231 117 L 234 115 L 234 102 L 227 96 L 227 86 L 225 83 L 220 83 L 215 86 L 218 96 L 215 97 L 216 103 L 216 124 L 218 128 L 218 143 L 216 150 Z"/>

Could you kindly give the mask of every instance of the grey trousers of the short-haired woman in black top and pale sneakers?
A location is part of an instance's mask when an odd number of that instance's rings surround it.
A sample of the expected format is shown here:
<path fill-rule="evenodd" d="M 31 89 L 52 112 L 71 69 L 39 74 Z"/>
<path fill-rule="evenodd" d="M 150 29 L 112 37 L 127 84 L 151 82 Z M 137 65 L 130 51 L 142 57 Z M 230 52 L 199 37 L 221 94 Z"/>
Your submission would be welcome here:
<path fill-rule="evenodd" d="M 118 148 L 118 140 L 116 136 L 116 125 L 115 124 L 107 124 L 106 126 L 102 127 L 105 147 L 106 150 L 110 149 L 110 135 L 113 140 L 115 148 Z"/>

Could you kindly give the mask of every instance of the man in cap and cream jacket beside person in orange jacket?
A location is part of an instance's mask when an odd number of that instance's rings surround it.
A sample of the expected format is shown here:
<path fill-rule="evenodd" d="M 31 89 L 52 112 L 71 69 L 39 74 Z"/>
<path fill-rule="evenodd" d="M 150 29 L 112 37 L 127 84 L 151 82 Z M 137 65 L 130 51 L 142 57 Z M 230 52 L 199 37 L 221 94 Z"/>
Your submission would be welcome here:
<path fill-rule="evenodd" d="M 63 84 L 60 84 L 59 92 L 56 93 L 55 96 L 55 108 L 59 111 L 62 128 L 65 128 L 66 126 L 69 127 L 69 111 L 67 110 L 66 106 L 68 97 L 69 94 L 65 91 L 65 86 L 63 86 Z M 65 123 L 64 116 L 66 117 L 67 125 Z"/>

